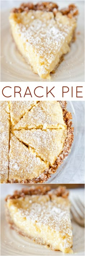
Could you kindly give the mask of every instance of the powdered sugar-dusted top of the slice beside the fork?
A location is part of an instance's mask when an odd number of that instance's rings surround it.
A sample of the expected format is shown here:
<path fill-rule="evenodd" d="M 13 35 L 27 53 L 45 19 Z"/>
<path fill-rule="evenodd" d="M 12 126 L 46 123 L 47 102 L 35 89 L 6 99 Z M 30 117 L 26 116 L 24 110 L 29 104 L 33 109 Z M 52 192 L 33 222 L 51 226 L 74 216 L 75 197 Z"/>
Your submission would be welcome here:
<path fill-rule="evenodd" d="M 17 200 L 12 200 L 14 207 L 17 207 L 19 216 L 22 216 L 31 221 L 33 225 L 37 225 L 38 229 L 43 230 L 43 225 L 46 231 L 54 234 L 54 248 L 57 244 L 57 232 L 61 237 L 63 248 L 71 247 L 72 245 L 72 229 L 70 220 L 70 204 L 66 199 L 54 196 L 50 199 L 45 196 L 26 196 Z M 25 222 L 23 222 L 23 226 Z M 28 227 L 26 226 L 26 229 Z M 35 226 L 34 226 L 35 230 Z M 44 237 L 44 232 L 42 238 Z"/>

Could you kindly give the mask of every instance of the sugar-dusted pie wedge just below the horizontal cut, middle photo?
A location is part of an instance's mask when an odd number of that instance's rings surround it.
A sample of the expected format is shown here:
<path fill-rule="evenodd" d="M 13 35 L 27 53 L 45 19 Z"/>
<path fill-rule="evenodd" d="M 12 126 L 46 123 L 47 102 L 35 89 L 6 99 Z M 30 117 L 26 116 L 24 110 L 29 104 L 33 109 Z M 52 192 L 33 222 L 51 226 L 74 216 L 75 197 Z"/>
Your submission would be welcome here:
<path fill-rule="evenodd" d="M 19 141 L 27 145 L 30 152 L 36 153 L 48 166 L 52 166 L 63 150 L 67 129 L 31 129 L 14 131 Z"/>

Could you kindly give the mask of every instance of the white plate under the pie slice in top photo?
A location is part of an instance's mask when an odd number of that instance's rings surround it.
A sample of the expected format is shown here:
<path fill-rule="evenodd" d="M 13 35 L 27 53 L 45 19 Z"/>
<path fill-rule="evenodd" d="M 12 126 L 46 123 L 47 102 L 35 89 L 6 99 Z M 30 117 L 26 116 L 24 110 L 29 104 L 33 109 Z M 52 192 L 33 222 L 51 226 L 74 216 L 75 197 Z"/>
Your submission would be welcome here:
<path fill-rule="evenodd" d="M 6 8 L 9 10 L 1 12 L 1 81 L 41 81 L 40 77 L 32 72 L 30 65 L 19 54 L 10 34 L 9 11 L 12 7 L 18 7 L 21 1 L 2 2 L 5 2 Z M 60 0 L 57 3 L 63 8 L 72 1 Z M 84 1 L 74 0 L 73 3 L 76 3 L 79 9 L 76 41 L 71 44 L 71 51 L 64 56 L 64 61 L 55 73 L 51 74 L 51 81 L 84 81 Z M 2 5 L 5 9 L 4 3 Z M 80 32 L 80 35 L 77 32 Z"/>

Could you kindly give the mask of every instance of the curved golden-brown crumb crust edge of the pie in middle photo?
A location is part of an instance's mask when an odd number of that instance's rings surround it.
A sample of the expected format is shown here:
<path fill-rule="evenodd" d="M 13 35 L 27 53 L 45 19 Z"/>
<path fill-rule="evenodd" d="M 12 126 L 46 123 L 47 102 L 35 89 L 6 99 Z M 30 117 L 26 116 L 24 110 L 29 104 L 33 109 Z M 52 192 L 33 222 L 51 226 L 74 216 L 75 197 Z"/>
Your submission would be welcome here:
<path fill-rule="evenodd" d="M 74 128 L 71 127 L 72 121 L 70 120 L 72 119 L 72 115 L 70 112 L 66 110 L 66 106 L 67 106 L 66 101 L 59 101 L 59 103 L 61 104 L 61 107 L 63 110 L 63 119 L 67 125 L 67 137 L 64 142 L 63 151 L 57 157 L 54 165 L 52 167 L 49 167 L 49 169 L 46 169 L 44 172 L 42 172 L 42 174 L 39 177 L 33 178 L 31 180 L 29 179 L 21 180 L 20 182 L 19 180 L 12 179 L 11 181 L 8 181 L 8 183 L 24 183 L 24 184 L 25 183 L 44 183 L 50 178 L 51 174 L 54 174 L 57 171 L 58 167 L 63 163 L 63 160 L 70 153 L 72 142 L 73 142 L 73 131 L 74 131 Z"/>

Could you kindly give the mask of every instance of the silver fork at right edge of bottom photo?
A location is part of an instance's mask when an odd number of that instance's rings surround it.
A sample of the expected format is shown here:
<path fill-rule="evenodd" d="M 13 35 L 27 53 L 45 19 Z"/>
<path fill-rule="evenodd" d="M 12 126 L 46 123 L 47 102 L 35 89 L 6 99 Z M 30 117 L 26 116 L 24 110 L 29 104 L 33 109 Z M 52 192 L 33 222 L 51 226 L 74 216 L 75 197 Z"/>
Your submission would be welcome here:
<path fill-rule="evenodd" d="M 85 227 L 85 208 L 79 198 L 72 201 L 71 213 L 76 223 Z"/>

